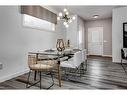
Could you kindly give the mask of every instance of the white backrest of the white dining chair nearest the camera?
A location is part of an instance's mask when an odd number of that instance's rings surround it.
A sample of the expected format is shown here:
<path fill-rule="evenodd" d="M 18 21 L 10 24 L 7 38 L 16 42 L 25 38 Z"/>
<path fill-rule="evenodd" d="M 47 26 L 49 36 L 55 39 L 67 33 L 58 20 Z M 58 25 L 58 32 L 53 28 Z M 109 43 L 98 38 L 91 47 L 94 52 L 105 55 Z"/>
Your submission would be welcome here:
<path fill-rule="evenodd" d="M 82 52 L 78 51 L 74 54 L 74 63 L 75 67 L 78 67 L 82 63 Z"/>

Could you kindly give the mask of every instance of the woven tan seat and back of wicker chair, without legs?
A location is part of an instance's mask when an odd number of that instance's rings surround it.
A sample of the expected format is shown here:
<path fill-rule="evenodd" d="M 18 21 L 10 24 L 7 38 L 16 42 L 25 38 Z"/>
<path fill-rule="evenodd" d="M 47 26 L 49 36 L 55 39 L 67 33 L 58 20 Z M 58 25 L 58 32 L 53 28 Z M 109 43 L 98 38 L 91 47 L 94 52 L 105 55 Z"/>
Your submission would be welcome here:
<path fill-rule="evenodd" d="M 28 66 L 32 70 L 52 70 L 57 67 L 57 61 L 51 58 L 48 58 L 46 55 L 38 55 L 38 60 L 36 59 L 35 54 L 28 55 Z M 49 68 L 50 67 L 50 68 Z M 52 69 L 51 69 L 52 68 Z"/>

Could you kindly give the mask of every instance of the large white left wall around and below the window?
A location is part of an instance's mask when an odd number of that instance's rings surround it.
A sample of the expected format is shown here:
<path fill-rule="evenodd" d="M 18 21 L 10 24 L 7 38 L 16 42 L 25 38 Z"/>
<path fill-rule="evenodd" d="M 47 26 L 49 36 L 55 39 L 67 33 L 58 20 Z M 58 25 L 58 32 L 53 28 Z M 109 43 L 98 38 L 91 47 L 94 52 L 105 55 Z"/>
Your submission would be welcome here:
<path fill-rule="evenodd" d="M 55 48 L 57 38 L 65 39 L 66 30 L 60 23 L 55 32 L 24 27 L 18 6 L 0 6 L 0 82 L 28 71 L 27 54 Z"/>

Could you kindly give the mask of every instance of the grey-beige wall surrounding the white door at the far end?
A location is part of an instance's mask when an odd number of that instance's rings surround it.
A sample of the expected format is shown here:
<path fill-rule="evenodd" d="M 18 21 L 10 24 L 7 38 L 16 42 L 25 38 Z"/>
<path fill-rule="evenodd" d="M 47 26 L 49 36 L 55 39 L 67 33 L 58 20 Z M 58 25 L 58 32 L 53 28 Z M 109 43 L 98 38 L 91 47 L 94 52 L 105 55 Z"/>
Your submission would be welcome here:
<path fill-rule="evenodd" d="M 103 55 L 111 56 L 112 55 L 112 19 L 102 19 L 94 21 L 86 21 L 86 48 L 88 49 L 88 28 L 92 27 L 103 27 Z"/>

